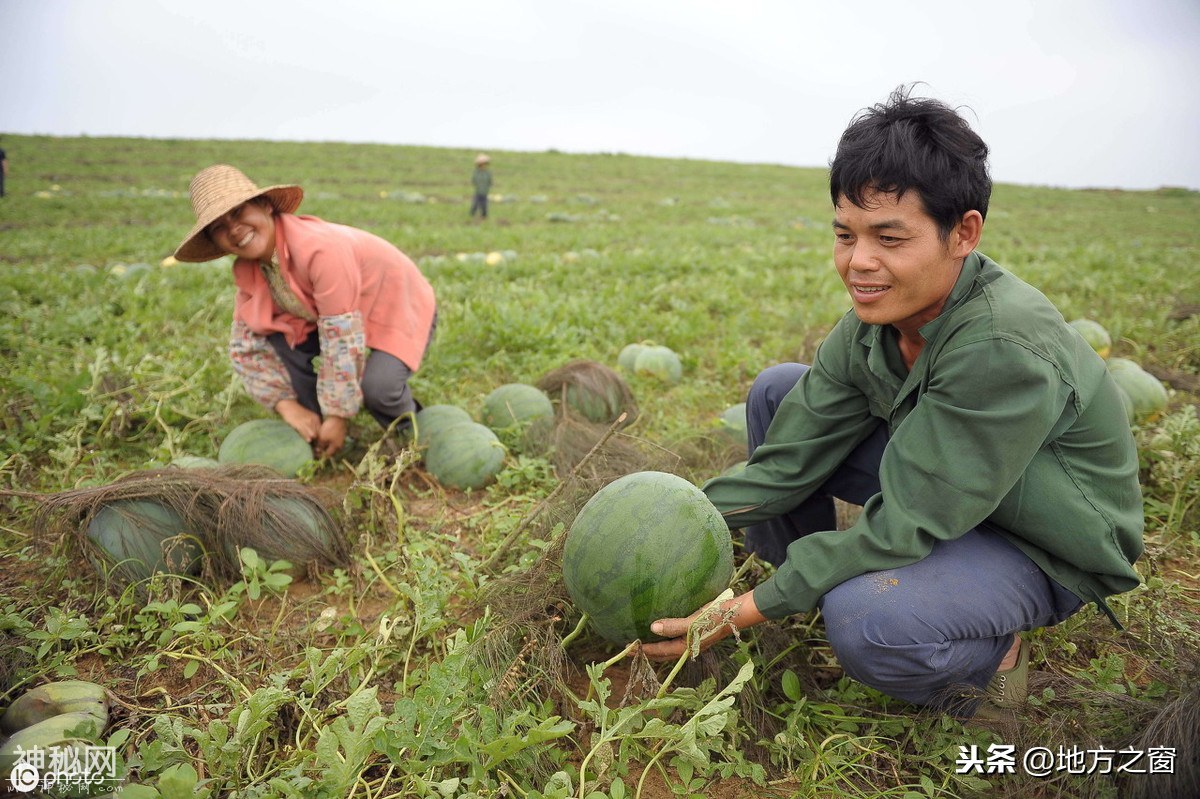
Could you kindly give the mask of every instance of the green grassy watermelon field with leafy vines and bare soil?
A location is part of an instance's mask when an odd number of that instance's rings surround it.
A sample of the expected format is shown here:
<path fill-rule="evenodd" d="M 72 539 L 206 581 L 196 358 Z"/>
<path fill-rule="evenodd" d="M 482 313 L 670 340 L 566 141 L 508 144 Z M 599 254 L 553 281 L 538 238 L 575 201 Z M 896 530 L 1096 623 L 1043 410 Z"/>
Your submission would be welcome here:
<path fill-rule="evenodd" d="M 380 446 L 366 414 L 342 457 L 305 476 L 348 530 L 344 569 L 293 579 L 248 563 L 240 581 L 121 590 L 31 516 L 34 494 L 211 457 L 265 414 L 224 354 L 228 262 L 160 266 L 191 227 L 187 182 L 205 166 L 299 182 L 305 212 L 418 260 L 440 306 L 413 383 L 425 404 L 478 415 L 503 383 L 572 359 L 614 366 L 631 342 L 671 347 L 683 380 L 630 378 L 641 413 L 624 440 L 635 464 L 695 482 L 744 457 L 720 413 L 763 367 L 811 358 L 848 307 L 824 170 L 493 152 L 479 224 L 464 150 L 4 143 L 0 708 L 50 678 L 106 685 L 106 738 L 138 783 L 121 795 L 1184 795 L 1182 775 L 1039 777 L 1020 758 L 1174 746 L 1183 771 L 1196 753 L 1180 731 L 1200 701 L 1200 194 L 994 193 L 980 250 L 1172 388 L 1169 413 L 1135 429 L 1147 553 L 1144 585 L 1114 601 L 1126 630 L 1087 609 L 1036 632 L 1025 721 L 996 733 L 844 677 L 817 615 L 757 627 L 678 675 L 614 657 L 587 630 L 564 647 L 580 615 L 562 591 L 522 607 L 511 589 L 553 573 L 539 570 L 554 523 L 580 499 L 552 495 L 563 463 L 512 453 L 485 491 L 446 491 L 410 451 Z M 762 573 L 750 564 L 739 587 Z M 960 747 L 995 744 L 1015 746 L 1015 774 L 958 773 Z"/>

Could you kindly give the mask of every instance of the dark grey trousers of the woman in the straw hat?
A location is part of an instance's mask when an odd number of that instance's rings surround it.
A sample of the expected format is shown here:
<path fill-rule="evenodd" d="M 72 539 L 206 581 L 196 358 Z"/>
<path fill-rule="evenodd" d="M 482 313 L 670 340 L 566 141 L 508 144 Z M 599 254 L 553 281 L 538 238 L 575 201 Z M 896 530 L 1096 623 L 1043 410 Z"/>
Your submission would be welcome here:
<path fill-rule="evenodd" d="M 319 414 L 317 371 L 312 366 L 313 359 L 320 355 L 317 331 L 312 331 L 294 349 L 288 347 L 283 334 L 271 334 L 266 338 L 288 371 L 292 389 L 296 392 L 296 402 Z M 410 377 L 413 377 L 413 370 L 408 368 L 408 365 L 395 355 L 378 349 L 371 350 L 371 354 L 367 355 L 366 365 L 362 368 L 362 404 L 382 427 L 386 428 L 401 416 L 421 409 L 421 404 L 416 402 L 412 389 L 408 388 Z M 410 422 L 401 421 L 396 427 L 404 429 L 409 425 Z"/>

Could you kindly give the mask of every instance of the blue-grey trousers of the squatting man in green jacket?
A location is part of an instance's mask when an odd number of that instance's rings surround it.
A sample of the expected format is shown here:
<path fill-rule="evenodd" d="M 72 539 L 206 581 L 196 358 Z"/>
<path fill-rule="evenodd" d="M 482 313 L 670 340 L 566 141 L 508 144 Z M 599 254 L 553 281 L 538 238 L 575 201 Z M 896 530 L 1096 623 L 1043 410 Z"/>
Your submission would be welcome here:
<path fill-rule="evenodd" d="M 780 364 L 756 378 L 746 398 L 751 453 L 805 371 L 803 364 Z M 881 421 L 812 497 L 748 528 L 746 548 L 778 565 L 796 539 L 835 529 L 834 497 L 862 505 L 878 493 L 887 441 Z M 914 564 L 866 572 L 829 590 L 818 607 L 846 673 L 889 696 L 970 715 L 1013 633 L 1058 624 L 1082 607 L 996 530 L 984 522 L 937 541 Z"/>

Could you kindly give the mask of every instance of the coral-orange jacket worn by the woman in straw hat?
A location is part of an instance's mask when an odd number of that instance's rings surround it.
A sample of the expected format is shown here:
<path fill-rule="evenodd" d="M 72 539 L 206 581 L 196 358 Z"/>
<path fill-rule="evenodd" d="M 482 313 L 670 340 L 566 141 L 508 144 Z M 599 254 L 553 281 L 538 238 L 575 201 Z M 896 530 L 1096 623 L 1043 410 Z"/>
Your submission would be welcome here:
<path fill-rule="evenodd" d="M 359 312 L 366 344 L 414 372 L 428 343 L 437 301 L 413 260 L 379 236 L 316 216 L 275 215 L 280 272 L 318 317 Z M 258 263 L 239 258 L 234 318 L 260 336 L 282 332 L 295 347 L 317 325 L 278 308 Z"/>

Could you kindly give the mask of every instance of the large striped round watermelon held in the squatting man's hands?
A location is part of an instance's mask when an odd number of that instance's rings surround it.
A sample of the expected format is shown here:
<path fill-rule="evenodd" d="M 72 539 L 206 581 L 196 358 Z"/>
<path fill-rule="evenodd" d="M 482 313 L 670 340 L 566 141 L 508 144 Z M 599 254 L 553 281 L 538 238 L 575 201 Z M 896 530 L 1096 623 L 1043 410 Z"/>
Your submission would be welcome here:
<path fill-rule="evenodd" d="M 636 471 L 587 501 L 563 547 L 575 605 L 607 641 L 649 641 L 650 623 L 690 615 L 733 576 L 721 513 L 683 477 Z"/>

